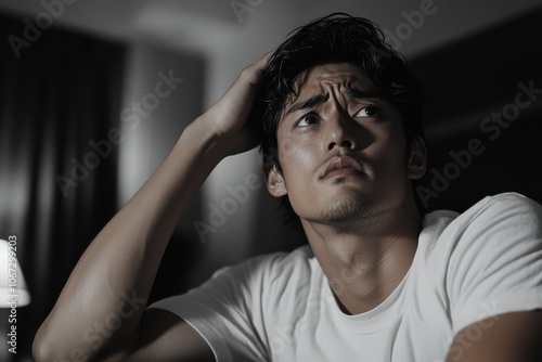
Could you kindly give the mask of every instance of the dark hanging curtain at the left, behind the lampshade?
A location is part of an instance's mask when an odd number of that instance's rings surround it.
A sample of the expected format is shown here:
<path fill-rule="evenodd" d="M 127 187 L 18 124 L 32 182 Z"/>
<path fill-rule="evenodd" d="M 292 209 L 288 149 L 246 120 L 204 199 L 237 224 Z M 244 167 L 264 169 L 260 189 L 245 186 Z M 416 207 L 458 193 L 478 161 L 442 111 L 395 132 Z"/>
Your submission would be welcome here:
<path fill-rule="evenodd" d="M 126 53 L 54 24 L 28 41 L 24 18 L 0 15 L 0 238 L 16 236 L 33 298 L 17 311 L 14 361 L 29 360 L 69 272 L 116 211 Z M 18 57 L 13 36 L 25 41 Z"/>

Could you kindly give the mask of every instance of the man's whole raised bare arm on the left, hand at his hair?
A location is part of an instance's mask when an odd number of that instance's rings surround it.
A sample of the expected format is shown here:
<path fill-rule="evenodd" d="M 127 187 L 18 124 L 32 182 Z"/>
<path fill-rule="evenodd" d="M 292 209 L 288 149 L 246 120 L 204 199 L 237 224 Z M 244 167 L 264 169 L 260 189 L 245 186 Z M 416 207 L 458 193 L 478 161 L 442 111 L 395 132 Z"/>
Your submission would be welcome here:
<path fill-rule="evenodd" d="M 171 325 L 165 312 L 143 320 L 144 307 L 192 195 L 222 158 L 257 144 L 246 120 L 266 60 L 245 68 L 220 101 L 183 131 L 156 172 L 90 244 L 36 335 L 37 361 L 138 354 L 173 359 L 164 350 L 164 340 L 172 336 L 170 348 L 185 353 L 176 359 L 191 355 L 191 338 L 201 337 L 178 318 Z"/>

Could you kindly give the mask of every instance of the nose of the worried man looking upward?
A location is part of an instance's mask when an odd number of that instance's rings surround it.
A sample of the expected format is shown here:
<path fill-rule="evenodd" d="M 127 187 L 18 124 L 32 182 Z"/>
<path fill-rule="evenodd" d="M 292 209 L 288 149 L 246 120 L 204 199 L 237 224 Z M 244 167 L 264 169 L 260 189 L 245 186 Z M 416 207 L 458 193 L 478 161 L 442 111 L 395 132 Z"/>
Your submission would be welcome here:
<path fill-rule="evenodd" d="M 356 138 L 357 122 L 350 115 L 341 109 L 334 109 L 327 121 L 326 144 L 327 151 L 334 148 L 356 150 L 358 142 Z"/>

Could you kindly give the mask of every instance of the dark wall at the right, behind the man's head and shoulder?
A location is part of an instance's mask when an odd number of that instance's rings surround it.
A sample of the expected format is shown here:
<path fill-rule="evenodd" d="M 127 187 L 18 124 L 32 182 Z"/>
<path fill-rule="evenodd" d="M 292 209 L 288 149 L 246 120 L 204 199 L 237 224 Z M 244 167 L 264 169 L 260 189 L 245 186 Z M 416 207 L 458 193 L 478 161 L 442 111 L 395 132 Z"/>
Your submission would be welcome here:
<path fill-rule="evenodd" d="M 429 95 L 427 210 L 506 191 L 542 202 L 541 22 L 542 8 L 410 61 Z"/>

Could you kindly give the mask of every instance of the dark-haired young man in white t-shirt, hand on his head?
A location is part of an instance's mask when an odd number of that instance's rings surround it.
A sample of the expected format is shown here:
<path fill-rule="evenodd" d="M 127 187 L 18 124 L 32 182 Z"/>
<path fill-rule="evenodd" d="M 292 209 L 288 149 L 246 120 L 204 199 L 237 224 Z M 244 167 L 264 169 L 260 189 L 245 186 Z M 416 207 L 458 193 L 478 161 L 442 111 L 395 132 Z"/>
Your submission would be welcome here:
<path fill-rule="evenodd" d="M 96 236 L 36 336 L 36 360 L 541 361 L 542 209 L 501 194 L 422 215 L 423 103 L 370 22 L 302 27 L 241 73 Z M 270 193 L 310 245 L 145 308 L 191 195 L 258 142 Z"/>

